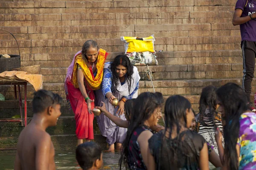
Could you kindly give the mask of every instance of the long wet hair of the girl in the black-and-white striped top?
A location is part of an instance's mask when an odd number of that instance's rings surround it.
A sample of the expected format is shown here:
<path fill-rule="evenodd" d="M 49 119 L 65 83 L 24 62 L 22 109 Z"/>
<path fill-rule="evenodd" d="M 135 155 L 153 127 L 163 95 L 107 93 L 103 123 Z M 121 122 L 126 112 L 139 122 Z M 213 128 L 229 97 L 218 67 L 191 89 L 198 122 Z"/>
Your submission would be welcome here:
<path fill-rule="evenodd" d="M 209 111 L 211 114 L 211 119 L 214 124 L 215 130 L 217 129 L 217 125 L 215 125 L 215 116 L 218 114 L 216 111 L 216 105 L 217 105 L 217 94 L 216 94 L 217 88 L 213 85 L 209 85 L 205 88 L 203 88 L 201 97 L 199 100 L 199 122 L 203 126 L 207 126 L 204 122 L 204 113 L 209 106 Z"/>

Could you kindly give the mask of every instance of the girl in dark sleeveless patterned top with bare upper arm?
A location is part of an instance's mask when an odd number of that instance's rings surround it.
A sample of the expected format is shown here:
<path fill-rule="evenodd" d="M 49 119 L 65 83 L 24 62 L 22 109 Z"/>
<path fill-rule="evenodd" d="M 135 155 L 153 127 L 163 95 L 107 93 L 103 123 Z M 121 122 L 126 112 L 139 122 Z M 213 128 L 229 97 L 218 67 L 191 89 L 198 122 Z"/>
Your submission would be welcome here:
<path fill-rule="evenodd" d="M 162 104 L 163 95 L 158 92 L 145 92 L 137 97 L 123 142 L 120 170 L 123 166 L 130 170 L 145 170 L 154 165 L 153 156 L 148 155 L 148 139 L 153 136 L 151 129 L 161 118 Z"/>

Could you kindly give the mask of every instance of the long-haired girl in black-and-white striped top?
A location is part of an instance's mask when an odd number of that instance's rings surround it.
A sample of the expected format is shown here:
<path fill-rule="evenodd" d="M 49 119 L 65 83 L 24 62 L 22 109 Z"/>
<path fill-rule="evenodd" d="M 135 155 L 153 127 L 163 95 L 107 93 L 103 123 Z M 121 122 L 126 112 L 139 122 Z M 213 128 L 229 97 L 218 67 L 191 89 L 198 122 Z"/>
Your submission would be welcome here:
<path fill-rule="evenodd" d="M 203 88 L 199 101 L 199 113 L 195 115 L 195 119 L 198 122 L 197 132 L 214 147 L 215 152 L 218 154 L 215 132 L 217 128 L 222 131 L 222 122 L 221 114 L 216 111 L 216 90 L 217 88 L 212 85 Z"/>

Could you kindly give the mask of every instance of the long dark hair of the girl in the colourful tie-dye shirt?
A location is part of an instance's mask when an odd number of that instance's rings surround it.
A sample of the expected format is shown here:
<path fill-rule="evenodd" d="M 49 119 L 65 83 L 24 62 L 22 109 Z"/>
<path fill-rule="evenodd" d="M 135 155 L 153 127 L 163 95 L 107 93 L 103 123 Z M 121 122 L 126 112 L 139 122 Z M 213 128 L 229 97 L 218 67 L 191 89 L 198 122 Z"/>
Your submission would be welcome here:
<path fill-rule="evenodd" d="M 240 130 L 239 118 L 248 109 L 247 96 L 235 83 L 227 83 L 218 88 L 217 96 L 224 108 L 222 120 L 226 122 L 224 125 L 224 161 L 227 161 L 230 170 L 238 170 L 236 143 Z"/>

